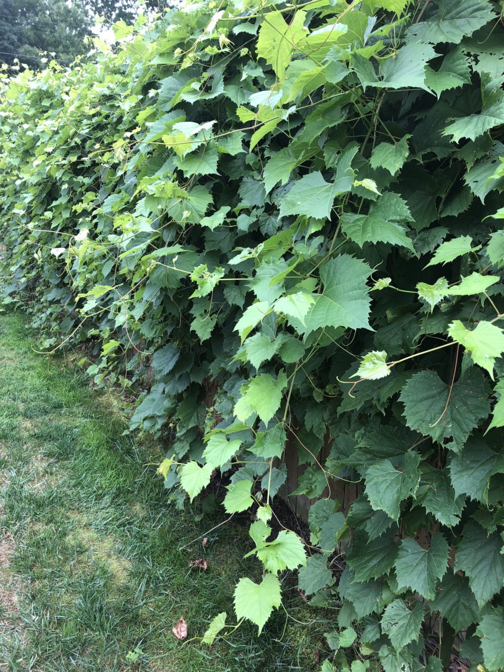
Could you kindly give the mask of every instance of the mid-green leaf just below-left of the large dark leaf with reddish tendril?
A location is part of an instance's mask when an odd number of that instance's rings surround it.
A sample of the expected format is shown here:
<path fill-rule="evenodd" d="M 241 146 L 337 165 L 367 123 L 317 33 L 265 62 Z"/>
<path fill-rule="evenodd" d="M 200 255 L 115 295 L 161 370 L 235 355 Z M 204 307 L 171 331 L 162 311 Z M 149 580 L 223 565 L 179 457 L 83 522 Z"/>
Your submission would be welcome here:
<path fill-rule="evenodd" d="M 366 495 L 375 510 L 398 520 L 401 502 L 415 496 L 420 482 L 417 452 L 407 452 L 397 469 L 390 460 L 378 460 L 366 472 Z"/>

